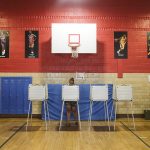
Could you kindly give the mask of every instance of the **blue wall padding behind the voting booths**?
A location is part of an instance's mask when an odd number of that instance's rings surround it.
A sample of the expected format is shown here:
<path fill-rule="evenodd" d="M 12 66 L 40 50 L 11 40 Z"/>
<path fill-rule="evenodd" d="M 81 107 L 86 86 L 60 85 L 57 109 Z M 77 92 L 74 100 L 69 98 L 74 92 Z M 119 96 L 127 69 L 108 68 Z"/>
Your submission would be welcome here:
<path fill-rule="evenodd" d="M 80 89 L 80 99 L 79 99 L 80 117 L 81 120 L 88 120 L 90 109 L 90 100 L 89 100 L 90 84 L 80 84 L 79 89 Z M 108 90 L 109 90 L 108 111 L 110 115 L 113 105 L 112 84 L 108 84 Z M 48 108 L 50 119 L 60 120 L 62 109 L 62 84 L 48 85 Z M 43 107 L 42 107 L 42 119 L 44 119 Z M 114 119 L 114 112 L 112 114 L 112 119 Z M 63 120 L 66 120 L 66 108 L 64 108 Z M 92 120 L 105 120 L 104 102 L 93 103 Z"/>

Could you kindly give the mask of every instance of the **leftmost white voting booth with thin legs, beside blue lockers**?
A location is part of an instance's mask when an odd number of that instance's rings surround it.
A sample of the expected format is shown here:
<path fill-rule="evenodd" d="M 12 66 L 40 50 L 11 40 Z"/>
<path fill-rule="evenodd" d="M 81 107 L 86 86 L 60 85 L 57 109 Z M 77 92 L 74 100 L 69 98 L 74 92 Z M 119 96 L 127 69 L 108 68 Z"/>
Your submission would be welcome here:
<path fill-rule="evenodd" d="M 47 99 L 48 99 L 48 88 L 47 88 L 47 85 L 33 85 L 33 84 L 29 84 L 29 87 L 28 87 L 28 100 L 30 102 L 29 102 L 26 130 L 28 128 L 30 114 L 31 114 L 31 123 L 32 123 L 32 102 L 33 101 L 41 101 L 41 102 L 43 102 L 44 115 L 45 115 L 45 126 L 46 126 L 46 130 L 47 130 L 47 119 L 46 119 L 46 116 L 48 116 L 48 120 L 50 120 Z"/>

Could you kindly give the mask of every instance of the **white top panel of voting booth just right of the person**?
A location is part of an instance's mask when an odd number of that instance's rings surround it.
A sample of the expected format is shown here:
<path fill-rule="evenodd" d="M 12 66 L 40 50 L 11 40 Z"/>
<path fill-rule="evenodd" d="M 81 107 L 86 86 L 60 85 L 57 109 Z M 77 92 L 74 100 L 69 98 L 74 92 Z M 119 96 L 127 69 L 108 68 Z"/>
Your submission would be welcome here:
<path fill-rule="evenodd" d="M 108 100 L 108 86 L 95 85 L 90 88 L 91 100 L 93 101 L 106 101 Z"/>

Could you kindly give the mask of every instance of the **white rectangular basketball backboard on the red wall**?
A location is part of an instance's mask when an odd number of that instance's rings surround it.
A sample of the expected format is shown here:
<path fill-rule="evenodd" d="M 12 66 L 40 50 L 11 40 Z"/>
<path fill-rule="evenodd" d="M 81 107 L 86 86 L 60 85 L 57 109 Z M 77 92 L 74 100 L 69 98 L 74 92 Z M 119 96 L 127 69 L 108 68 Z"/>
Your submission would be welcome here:
<path fill-rule="evenodd" d="M 96 24 L 84 23 L 52 23 L 52 53 L 71 53 L 69 35 L 80 35 L 78 53 L 96 53 Z M 71 36 L 73 41 L 78 41 L 77 36 Z"/>

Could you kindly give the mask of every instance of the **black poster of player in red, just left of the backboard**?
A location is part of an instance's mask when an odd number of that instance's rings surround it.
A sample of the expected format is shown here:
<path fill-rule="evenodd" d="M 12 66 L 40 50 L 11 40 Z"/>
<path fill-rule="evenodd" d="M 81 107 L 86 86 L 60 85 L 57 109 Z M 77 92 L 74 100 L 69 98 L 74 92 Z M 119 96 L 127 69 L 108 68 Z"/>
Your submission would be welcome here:
<path fill-rule="evenodd" d="M 38 58 L 39 56 L 39 32 L 25 31 L 25 58 Z"/>

